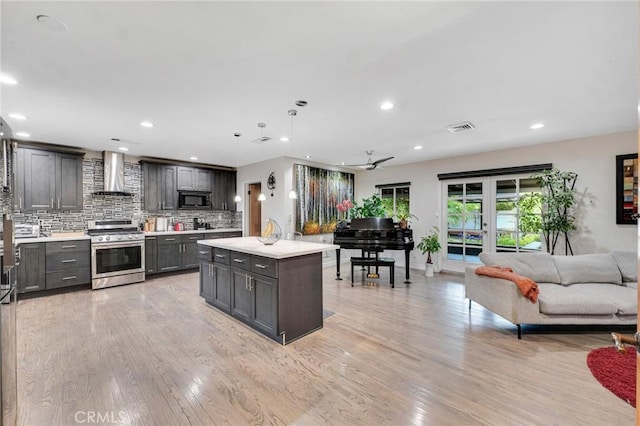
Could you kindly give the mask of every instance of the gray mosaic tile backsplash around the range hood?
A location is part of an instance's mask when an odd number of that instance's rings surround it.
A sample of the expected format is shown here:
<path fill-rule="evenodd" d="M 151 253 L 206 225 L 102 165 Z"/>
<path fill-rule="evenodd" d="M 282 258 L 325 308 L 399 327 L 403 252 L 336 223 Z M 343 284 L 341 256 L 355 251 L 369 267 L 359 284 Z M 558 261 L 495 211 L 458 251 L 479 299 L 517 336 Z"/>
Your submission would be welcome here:
<path fill-rule="evenodd" d="M 82 162 L 83 208 L 82 210 L 48 212 L 17 211 L 16 223 L 39 224 L 40 231 L 49 235 L 51 231 L 84 231 L 89 220 L 132 219 L 144 223 L 147 217 L 166 217 L 170 223 L 181 221 L 187 230 L 193 229 L 193 219 L 209 223 L 211 228 L 242 228 L 242 212 L 167 210 L 149 213 L 143 210 L 142 168 L 138 163 L 125 162 L 124 184 L 133 196 L 94 195 L 104 188 L 104 163 L 102 158 L 85 158 Z"/>

